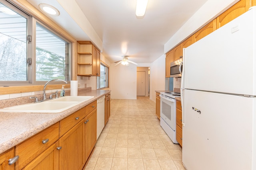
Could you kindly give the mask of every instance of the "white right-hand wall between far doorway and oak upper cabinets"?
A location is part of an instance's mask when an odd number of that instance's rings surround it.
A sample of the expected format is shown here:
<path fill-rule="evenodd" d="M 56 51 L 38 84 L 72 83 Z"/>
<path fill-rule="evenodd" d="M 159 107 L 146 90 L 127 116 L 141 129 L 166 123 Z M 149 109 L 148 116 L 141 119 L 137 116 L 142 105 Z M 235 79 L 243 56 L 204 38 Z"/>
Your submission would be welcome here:
<path fill-rule="evenodd" d="M 165 55 L 151 63 L 150 67 L 150 100 L 156 102 L 155 90 L 165 90 Z"/>

